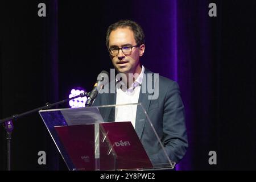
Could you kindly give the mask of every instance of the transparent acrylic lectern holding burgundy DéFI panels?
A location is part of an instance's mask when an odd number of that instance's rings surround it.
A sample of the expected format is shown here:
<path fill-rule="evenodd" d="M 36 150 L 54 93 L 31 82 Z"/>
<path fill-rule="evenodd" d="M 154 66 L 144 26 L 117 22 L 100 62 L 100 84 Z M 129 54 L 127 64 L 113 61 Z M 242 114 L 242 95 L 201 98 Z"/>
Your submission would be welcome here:
<path fill-rule="evenodd" d="M 115 121 L 117 111 L 137 110 L 131 121 Z M 135 112 L 131 112 L 135 113 Z M 173 169 L 141 104 L 40 110 L 44 124 L 69 170 Z"/>

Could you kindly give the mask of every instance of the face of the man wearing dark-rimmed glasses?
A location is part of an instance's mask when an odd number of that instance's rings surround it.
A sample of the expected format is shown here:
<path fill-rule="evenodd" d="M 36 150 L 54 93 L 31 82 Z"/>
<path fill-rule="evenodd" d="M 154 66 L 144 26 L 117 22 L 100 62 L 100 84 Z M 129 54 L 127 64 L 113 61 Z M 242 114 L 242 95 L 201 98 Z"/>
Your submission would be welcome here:
<path fill-rule="evenodd" d="M 129 27 L 117 28 L 109 35 L 109 48 L 136 45 L 133 31 Z M 145 46 L 142 44 L 139 47 L 133 47 L 131 55 L 125 55 L 121 49 L 117 56 L 110 55 L 115 69 L 119 73 L 140 73 L 139 57 L 143 55 L 144 49 Z"/>

